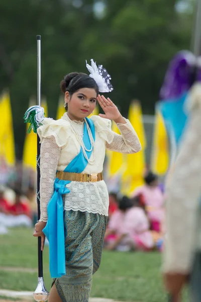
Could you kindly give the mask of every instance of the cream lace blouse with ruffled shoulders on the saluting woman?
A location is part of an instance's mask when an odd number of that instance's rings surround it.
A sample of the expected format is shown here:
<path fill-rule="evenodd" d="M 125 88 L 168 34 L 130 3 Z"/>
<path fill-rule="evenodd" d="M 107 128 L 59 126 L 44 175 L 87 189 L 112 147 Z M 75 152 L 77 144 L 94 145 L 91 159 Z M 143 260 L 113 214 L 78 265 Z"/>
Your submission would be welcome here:
<path fill-rule="evenodd" d="M 47 204 L 54 190 L 56 171 L 63 171 L 80 152 L 80 144 L 65 119 L 45 119 L 38 128 L 41 139 L 41 218 L 47 221 Z M 117 124 L 122 135 L 112 131 L 111 121 L 99 116 L 92 116 L 95 126 L 96 161 L 87 165 L 82 173 L 91 174 L 103 171 L 106 148 L 121 153 L 136 153 L 141 149 L 138 136 L 129 120 L 126 124 Z M 80 136 L 83 136 L 83 122 L 73 121 Z M 108 215 L 109 197 L 106 183 L 99 181 L 71 182 L 67 185 L 70 193 L 64 195 L 66 210 L 88 211 Z"/>

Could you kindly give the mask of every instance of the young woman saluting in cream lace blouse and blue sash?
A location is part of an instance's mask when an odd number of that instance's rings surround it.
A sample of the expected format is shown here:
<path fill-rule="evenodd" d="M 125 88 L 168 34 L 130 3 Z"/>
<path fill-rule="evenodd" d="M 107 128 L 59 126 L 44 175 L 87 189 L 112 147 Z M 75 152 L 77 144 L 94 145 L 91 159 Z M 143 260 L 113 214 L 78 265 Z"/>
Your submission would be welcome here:
<path fill-rule="evenodd" d="M 38 128 L 41 218 L 34 236 L 41 236 L 42 249 L 45 235 L 50 244 L 50 273 L 55 279 L 49 302 L 88 301 L 108 219 L 109 197 L 102 175 L 106 148 L 128 154 L 141 149 L 129 120 L 109 98 L 99 95 L 112 90 L 110 75 L 92 60 L 87 68 L 90 75 L 72 72 L 60 84 L 67 108 L 63 117 L 45 119 Z M 96 101 L 105 114 L 88 119 Z M 121 135 L 111 130 L 111 120 Z"/>

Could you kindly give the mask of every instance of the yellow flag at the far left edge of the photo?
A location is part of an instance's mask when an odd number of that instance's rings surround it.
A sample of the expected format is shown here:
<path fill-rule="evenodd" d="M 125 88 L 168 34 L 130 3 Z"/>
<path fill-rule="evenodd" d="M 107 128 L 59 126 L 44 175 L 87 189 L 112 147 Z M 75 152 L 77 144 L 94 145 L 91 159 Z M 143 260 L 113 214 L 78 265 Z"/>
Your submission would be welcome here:
<path fill-rule="evenodd" d="M 0 153 L 9 166 L 15 165 L 15 141 L 13 131 L 13 117 L 10 96 L 8 92 L 1 97 L 1 124 L 0 124 Z"/>

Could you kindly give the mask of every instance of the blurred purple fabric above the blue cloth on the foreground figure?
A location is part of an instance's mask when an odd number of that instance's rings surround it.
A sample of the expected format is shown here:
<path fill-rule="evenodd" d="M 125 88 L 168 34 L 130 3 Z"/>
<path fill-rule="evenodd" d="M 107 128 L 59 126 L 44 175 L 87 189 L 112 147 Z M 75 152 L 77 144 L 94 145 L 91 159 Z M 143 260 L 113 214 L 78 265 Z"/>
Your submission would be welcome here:
<path fill-rule="evenodd" d="M 195 56 L 190 51 L 179 51 L 170 61 L 160 90 L 160 99 L 178 98 L 188 91 L 194 80 L 201 81 L 201 70 L 194 78 Z"/>

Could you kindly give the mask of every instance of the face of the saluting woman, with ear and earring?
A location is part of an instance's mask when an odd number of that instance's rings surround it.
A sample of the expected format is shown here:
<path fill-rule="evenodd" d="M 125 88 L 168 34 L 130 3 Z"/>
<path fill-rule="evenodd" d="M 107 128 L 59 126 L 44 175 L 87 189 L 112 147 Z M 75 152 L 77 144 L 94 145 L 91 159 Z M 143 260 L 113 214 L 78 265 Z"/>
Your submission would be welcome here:
<path fill-rule="evenodd" d="M 65 102 L 68 105 L 68 116 L 70 119 L 82 121 L 84 117 L 89 116 L 96 104 L 97 94 L 92 88 L 82 88 L 69 95 L 65 93 Z"/>

